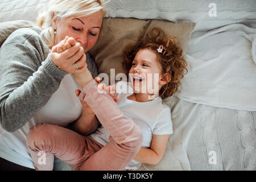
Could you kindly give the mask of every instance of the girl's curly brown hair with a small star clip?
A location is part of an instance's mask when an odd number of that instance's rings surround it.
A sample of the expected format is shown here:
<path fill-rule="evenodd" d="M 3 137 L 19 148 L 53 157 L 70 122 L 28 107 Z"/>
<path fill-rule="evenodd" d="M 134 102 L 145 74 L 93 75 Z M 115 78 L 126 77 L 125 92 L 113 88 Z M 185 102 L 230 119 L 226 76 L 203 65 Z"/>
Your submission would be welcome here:
<path fill-rule="evenodd" d="M 163 45 L 163 52 L 157 49 Z M 128 44 L 123 50 L 123 68 L 127 71 L 131 68 L 131 63 L 140 49 L 150 49 L 158 56 L 162 73 L 167 73 L 171 78 L 170 82 L 163 85 L 159 90 L 159 96 L 164 99 L 171 97 L 181 85 L 181 78 L 187 74 L 187 61 L 182 56 L 182 49 L 177 46 L 177 39 L 174 36 L 166 36 L 160 28 L 152 28 L 150 34 L 141 36 L 135 44 Z M 185 71 L 185 73 L 184 73 Z"/>

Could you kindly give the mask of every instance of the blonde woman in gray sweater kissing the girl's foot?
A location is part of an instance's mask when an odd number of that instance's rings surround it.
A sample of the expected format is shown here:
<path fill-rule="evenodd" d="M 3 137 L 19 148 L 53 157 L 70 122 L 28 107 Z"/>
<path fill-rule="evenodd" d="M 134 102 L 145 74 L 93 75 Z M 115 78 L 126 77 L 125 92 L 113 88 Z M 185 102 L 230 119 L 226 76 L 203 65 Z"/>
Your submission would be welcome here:
<path fill-rule="evenodd" d="M 88 55 L 101 31 L 102 0 L 51 0 L 38 17 L 37 28 L 16 30 L 0 49 L 1 168 L 34 168 L 26 147 L 30 128 L 41 123 L 67 126 L 84 109 L 75 90 L 81 87 L 69 73 L 86 68 L 97 76 Z M 59 53 L 65 36 L 76 45 Z M 86 56 L 85 54 L 86 53 Z M 88 132 L 97 122 L 88 123 Z"/>

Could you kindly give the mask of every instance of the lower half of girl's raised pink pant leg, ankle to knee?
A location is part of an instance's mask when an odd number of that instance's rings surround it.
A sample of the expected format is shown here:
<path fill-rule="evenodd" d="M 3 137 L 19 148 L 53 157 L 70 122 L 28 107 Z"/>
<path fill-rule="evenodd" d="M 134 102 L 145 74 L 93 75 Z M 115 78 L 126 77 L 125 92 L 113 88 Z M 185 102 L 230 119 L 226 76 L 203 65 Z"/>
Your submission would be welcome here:
<path fill-rule="evenodd" d="M 80 93 L 80 100 L 84 100 L 97 115 L 97 118 L 117 143 L 129 143 L 137 140 L 141 127 L 123 115 L 115 101 L 106 92 L 100 93 L 97 82 L 90 81 Z"/>

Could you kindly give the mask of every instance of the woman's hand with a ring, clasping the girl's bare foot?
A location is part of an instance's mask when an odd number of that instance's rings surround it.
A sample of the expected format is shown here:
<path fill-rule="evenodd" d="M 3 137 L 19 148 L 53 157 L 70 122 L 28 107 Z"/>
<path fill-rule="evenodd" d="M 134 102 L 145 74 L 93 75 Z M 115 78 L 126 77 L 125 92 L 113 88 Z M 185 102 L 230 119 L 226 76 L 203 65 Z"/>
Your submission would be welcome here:
<path fill-rule="evenodd" d="M 87 69 L 84 48 L 73 38 L 66 37 L 59 44 L 53 46 L 50 58 L 56 67 L 67 73 L 81 73 Z M 76 68 L 75 64 L 79 69 Z"/>

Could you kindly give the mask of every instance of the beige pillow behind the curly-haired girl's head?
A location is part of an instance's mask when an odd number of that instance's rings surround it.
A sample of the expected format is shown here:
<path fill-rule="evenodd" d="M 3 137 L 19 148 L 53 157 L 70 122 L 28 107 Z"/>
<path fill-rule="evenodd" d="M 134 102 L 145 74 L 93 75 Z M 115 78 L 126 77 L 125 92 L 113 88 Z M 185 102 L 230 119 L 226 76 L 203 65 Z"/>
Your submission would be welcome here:
<path fill-rule="evenodd" d="M 115 69 L 115 75 L 126 73 L 122 68 L 123 48 L 130 42 L 137 42 L 141 31 L 147 33 L 153 27 L 164 30 L 166 35 L 175 36 L 183 55 L 187 52 L 188 41 L 196 23 L 172 23 L 165 20 L 139 20 L 132 18 L 105 18 L 102 24 L 103 36 L 89 53 L 98 65 L 99 73 L 107 73 L 109 82 L 115 81 L 110 77 L 110 69 Z"/>

